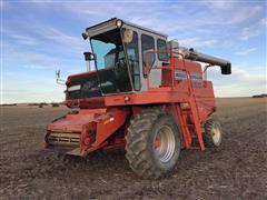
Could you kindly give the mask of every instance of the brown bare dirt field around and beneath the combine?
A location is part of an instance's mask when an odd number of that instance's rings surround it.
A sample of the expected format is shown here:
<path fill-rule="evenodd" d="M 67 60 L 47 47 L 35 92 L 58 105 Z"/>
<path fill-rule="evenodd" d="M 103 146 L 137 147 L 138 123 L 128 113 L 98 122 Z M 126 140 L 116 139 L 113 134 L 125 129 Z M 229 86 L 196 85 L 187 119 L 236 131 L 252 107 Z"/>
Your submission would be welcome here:
<path fill-rule="evenodd" d="M 267 98 L 218 99 L 219 150 L 182 151 L 168 179 L 141 180 L 123 151 L 61 161 L 40 151 L 65 108 L 4 107 L 0 199 L 267 199 Z"/>

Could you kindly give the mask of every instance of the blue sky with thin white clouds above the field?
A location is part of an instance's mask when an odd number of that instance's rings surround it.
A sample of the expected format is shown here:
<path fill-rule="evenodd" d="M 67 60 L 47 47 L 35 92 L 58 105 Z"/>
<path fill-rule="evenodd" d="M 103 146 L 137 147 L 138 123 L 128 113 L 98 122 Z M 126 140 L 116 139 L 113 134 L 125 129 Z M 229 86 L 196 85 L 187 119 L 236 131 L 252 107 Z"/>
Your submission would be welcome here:
<path fill-rule="evenodd" d="M 83 72 L 81 32 L 113 17 L 230 60 L 231 76 L 208 71 L 216 97 L 266 93 L 266 1 L 1 0 L 0 9 L 0 103 L 63 101 L 56 70 L 62 79 Z"/>

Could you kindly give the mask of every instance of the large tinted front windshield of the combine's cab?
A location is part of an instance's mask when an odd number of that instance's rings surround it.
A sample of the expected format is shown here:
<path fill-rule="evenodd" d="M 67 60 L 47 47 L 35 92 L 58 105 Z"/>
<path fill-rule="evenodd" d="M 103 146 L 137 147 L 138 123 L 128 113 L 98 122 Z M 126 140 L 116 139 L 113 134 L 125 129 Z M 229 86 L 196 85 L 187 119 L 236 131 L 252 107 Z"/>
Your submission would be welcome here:
<path fill-rule="evenodd" d="M 119 29 L 91 38 L 102 93 L 131 91 L 129 71 Z"/>

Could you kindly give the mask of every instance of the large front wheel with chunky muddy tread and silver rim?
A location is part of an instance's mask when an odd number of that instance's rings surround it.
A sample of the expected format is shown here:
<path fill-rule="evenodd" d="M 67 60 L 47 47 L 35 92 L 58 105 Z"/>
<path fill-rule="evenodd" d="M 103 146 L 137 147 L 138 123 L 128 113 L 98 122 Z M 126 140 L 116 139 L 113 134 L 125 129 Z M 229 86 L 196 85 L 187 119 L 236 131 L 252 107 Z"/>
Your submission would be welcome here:
<path fill-rule="evenodd" d="M 174 118 L 161 109 L 146 109 L 130 122 L 126 136 L 126 158 L 142 178 L 168 176 L 180 154 L 179 129 Z"/>

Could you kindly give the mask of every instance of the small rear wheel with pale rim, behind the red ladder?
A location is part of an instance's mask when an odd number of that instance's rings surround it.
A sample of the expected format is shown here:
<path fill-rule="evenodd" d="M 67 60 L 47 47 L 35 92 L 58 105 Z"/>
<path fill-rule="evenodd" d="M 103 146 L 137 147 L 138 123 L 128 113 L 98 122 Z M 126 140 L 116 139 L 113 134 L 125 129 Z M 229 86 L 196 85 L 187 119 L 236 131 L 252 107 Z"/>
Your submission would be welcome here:
<path fill-rule="evenodd" d="M 205 123 L 204 142 L 208 148 L 218 148 L 221 143 L 222 131 L 220 123 L 215 119 L 208 119 Z"/>

